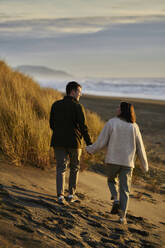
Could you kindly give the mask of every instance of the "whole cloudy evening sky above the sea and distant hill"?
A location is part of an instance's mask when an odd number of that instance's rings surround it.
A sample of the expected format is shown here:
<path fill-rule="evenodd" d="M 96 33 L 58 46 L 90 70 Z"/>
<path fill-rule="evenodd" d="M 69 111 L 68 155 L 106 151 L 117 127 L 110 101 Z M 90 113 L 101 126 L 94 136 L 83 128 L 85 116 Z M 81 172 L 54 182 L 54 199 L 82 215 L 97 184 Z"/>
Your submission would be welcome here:
<path fill-rule="evenodd" d="M 0 0 L 0 59 L 80 77 L 165 77 L 165 0 Z"/>

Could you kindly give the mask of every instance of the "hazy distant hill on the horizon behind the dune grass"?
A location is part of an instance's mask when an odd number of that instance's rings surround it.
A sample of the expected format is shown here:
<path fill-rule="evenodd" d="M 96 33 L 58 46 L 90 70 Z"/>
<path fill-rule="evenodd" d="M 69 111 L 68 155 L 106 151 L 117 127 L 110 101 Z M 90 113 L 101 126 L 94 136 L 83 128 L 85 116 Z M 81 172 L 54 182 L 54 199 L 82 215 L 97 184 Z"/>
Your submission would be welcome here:
<path fill-rule="evenodd" d="M 33 76 L 35 78 L 70 78 L 71 74 L 62 70 L 53 70 L 45 66 L 34 66 L 34 65 L 21 65 L 14 68 L 15 70 Z"/>

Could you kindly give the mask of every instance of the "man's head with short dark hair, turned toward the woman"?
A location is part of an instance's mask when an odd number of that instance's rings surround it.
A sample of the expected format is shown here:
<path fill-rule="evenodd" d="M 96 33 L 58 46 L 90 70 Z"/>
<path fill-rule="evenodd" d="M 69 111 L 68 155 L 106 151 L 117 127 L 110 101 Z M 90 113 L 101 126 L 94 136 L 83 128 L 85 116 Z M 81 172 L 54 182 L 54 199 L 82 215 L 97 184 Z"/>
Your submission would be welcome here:
<path fill-rule="evenodd" d="M 67 96 L 72 96 L 79 101 L 81 96 L 81 85 L 75 81 L 69 82 L 66 86 L 66 94 Z"/>

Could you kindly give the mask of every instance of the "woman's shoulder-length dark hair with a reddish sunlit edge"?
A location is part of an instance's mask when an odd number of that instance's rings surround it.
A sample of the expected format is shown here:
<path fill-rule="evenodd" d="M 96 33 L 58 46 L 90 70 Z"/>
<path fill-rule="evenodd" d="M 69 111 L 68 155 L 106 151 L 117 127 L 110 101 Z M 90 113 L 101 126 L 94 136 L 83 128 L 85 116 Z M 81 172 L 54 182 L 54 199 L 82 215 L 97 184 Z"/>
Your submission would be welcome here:
<path fill-rule="evenodd" d="M 136 122 L 135 110 L 131 103 L 121 102 L 120 112 L 121 113 L 118 115 L 118 117 L 126 120 L 127 122 L 131 122 L 131 123 Z"/>

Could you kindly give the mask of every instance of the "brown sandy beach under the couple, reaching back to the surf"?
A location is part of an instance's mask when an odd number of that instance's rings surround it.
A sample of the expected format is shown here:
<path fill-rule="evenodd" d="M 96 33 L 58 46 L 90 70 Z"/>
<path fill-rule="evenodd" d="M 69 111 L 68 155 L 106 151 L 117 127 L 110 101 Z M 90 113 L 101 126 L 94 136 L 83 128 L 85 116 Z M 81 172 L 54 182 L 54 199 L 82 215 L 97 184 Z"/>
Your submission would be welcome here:
<path fill-rule="evenodd" d="M 120 101 L 134 104 L 147 150 L 150 179 L 132 185 L 128 224 L 110 214 L 106 177 L 80 173 L 79 201 L 61 206 L 56 198 L 55 168 L 15 167 L 0 161 L 0 247 L 164 247 L 165 231 L 165 101 L 96 97 L 80 102 L 104 121 L 115 115 Z M 159 187 L 157 187 L 159 186 Z M 66 192 L 67 193 L 67 192 Z"/>

